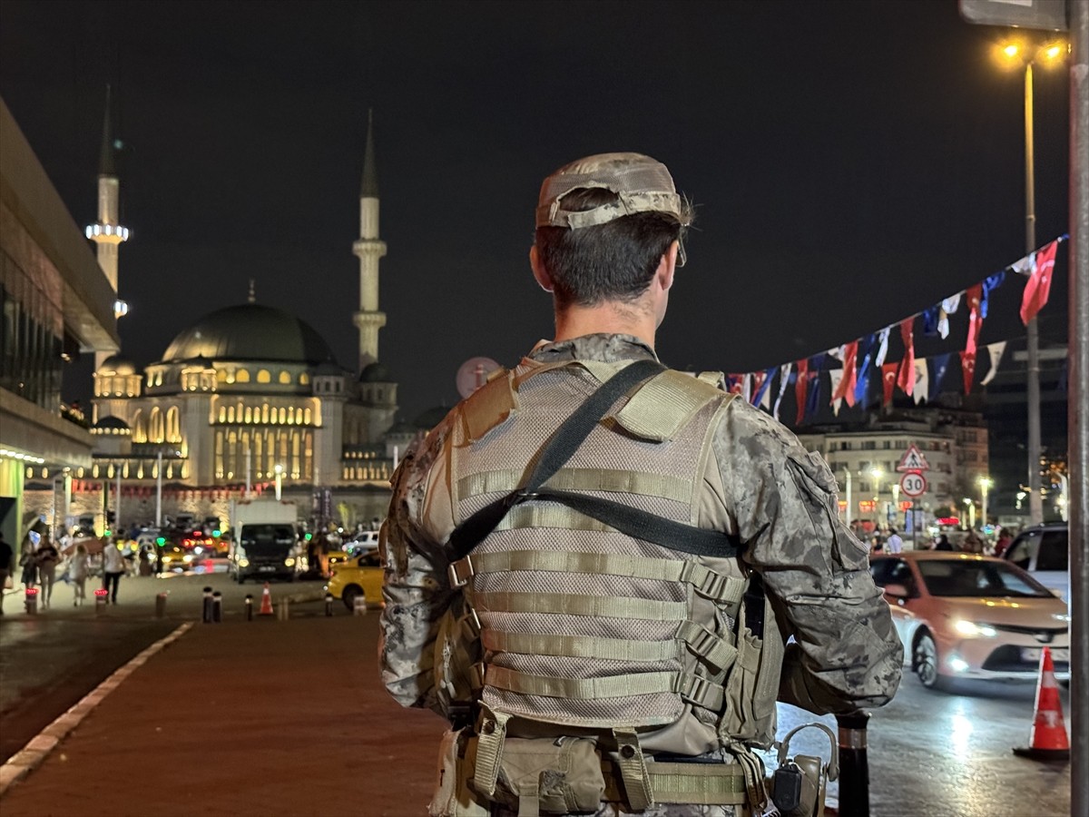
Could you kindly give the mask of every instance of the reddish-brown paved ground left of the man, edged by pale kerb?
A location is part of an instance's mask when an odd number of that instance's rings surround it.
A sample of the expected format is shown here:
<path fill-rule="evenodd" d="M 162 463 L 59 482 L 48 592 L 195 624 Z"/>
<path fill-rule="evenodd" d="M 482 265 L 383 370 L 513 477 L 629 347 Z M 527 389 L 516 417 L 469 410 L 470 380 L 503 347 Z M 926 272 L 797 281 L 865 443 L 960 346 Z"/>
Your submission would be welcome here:
<path fill-rule="evenodd" d="M 378 674 L 378 614 L 196 623 L 0 800 L 3 817 L 418 815 L 444 723 Z"/>

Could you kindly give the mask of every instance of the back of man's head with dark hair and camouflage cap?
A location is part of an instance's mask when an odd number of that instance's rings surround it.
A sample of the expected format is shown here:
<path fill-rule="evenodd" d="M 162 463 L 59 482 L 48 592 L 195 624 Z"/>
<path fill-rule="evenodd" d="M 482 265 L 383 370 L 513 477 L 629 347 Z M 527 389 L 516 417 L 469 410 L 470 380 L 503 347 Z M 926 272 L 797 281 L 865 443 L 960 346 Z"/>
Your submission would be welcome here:
<path fill-rule="evenodd" d="M 649 156 L 599 154 L 560 168 L 541 185 L 536 235 L 556 306 L 638 297 L 692 220 L 669 170 Z"/>

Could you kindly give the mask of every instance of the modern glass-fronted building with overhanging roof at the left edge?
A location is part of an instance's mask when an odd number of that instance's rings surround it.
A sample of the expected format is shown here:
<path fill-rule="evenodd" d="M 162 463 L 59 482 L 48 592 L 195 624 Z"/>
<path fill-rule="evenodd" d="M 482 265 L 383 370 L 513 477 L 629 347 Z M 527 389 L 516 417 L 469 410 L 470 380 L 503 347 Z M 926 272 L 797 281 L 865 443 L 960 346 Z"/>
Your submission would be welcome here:
<path fill-rule="evenodd" d="M 91 464 L 94 438 L 62 407 L 65 364 L 119 340 L 114 292 L 3 100 L 0 251 L 0 531 L 19 548 L 27 470 L 63 497 L 66 475 Z"/>

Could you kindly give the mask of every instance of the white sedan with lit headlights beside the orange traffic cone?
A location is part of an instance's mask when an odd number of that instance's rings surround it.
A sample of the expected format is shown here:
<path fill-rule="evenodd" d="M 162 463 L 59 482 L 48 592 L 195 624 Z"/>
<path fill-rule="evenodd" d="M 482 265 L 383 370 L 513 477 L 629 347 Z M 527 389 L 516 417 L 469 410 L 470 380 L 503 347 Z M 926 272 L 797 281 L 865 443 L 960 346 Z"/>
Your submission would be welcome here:
<path fill-rule="evenodd" d="M 916 550 L 874 556 L 904 643 L 904 662 L 928 688 L 955 679 L 1035 679 L 1041 647 L 1051 647 L 1059 680 L 1069 680 L 1066 605 L 1002 559 Z"/>

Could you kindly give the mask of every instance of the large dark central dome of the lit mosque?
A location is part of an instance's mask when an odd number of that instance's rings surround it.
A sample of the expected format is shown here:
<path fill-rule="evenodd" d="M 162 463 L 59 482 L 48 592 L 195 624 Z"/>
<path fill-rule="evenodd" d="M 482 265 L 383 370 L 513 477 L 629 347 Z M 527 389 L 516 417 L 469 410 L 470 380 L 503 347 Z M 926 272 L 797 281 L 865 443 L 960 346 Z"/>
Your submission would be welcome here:
<path fill-rule="evenodd" d="M 294 315 L 260 304 L 217 309 L 182 331 L 162 363 L 195 357 L 210 361 L 277 361 L 310 366 L 332 361 L 329 344 Z"/>

